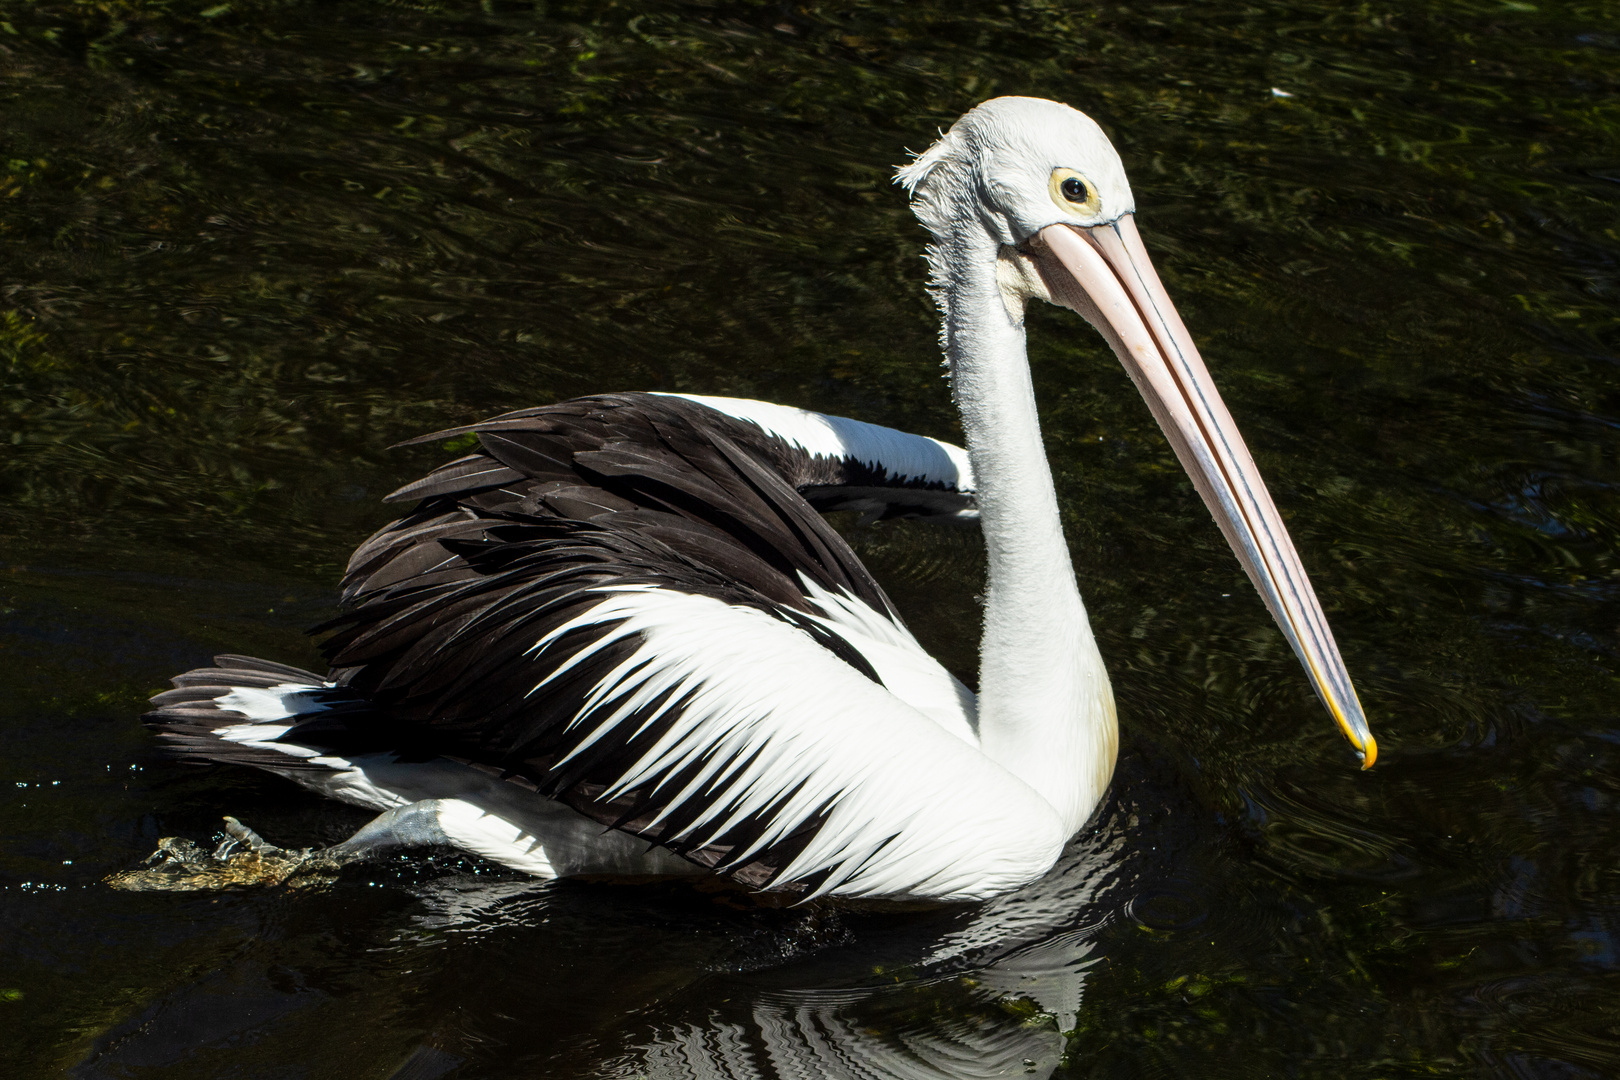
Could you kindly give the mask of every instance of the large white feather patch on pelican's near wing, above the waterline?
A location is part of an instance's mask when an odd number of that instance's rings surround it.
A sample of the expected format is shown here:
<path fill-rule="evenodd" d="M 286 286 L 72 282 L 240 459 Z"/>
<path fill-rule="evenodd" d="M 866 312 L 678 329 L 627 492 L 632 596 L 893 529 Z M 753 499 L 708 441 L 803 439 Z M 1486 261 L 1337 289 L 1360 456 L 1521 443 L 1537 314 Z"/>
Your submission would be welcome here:
<path fill-rule="evenodd" d="M 698 808 L 664 840 L 701 847 L 757 816 L 760 837 L 727 855 L 740 865 L 820 819 L 778 878 L 825 873 L 813 895 L 972 900 L 1022 886 L 1056 860 L 1066 837 L 1040 795 L 804 630 L 650 585 L 598 591 L 599 604 L 530 649 L 538 657 L 573 630 L 598 628 L 531 693 L 619 641 L 637 643 L 595 683 L 569 725 L 580 740 L 562 761 L 609 732 L 629 738 L 667 719 L 663 737 L 603 792 L 604 800 L 661 793 L 659 819 Z M 847 609 L 842 617 L 852 619 Z M 663 704 L 637 732 L 617 730 L 654 701 Z M 679 792 L 664 790 L 688 767 Z"/>

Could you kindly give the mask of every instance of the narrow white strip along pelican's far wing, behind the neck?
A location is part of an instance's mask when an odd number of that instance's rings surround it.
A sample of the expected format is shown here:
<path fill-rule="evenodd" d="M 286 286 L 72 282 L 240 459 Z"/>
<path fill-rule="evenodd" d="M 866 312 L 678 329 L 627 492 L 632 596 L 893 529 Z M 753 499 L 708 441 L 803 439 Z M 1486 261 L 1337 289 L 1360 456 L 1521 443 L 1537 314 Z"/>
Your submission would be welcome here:
<path fill-rule="evenodd" d="M 706 405 L 716 413 L 748 421 L 765 434 L 776 436 L 810 455 L 852 458 L 872 468 L 883 468 L 897 481 L 935 483 L 964 494 L 974 492 L 974 466 L 967 460 L 967 450 L 949 442 L 771 402 L 698 393 L 658 397 L 679 397 Z"/>

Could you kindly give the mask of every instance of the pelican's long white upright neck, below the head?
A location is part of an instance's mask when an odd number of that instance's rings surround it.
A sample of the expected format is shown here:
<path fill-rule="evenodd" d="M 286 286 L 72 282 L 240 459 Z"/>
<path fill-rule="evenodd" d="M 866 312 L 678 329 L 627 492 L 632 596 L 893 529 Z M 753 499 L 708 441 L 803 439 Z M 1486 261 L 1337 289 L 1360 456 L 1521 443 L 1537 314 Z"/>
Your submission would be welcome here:
<path fill-rule="evenodd" d="M 1003 300 L 998 246 L 974 225 L 936 236 L 932 261 L 988 551 L 980 745 L 1077 831 L 1113 776 L 1113 690 L 1063 539 L 1022 300 Z"/>

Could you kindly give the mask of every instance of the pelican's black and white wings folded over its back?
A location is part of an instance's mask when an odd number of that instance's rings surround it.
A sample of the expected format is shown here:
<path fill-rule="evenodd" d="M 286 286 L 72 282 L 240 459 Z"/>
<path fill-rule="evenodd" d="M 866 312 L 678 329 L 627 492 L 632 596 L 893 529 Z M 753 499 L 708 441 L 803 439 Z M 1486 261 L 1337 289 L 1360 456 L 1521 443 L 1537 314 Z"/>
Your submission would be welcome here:
<path fill-rule="evenodd" d="M 606 395 L 436 436 L 480 449 L 355 554 L 324 648 L 373 709 L 324 745 L 449 756 L 753 886 L 967 897 L 1040 873 L 1050 808 L 977 751 L 972 695 L 799 491 L 961 508 L 966 457 L 744 411 Z"/>

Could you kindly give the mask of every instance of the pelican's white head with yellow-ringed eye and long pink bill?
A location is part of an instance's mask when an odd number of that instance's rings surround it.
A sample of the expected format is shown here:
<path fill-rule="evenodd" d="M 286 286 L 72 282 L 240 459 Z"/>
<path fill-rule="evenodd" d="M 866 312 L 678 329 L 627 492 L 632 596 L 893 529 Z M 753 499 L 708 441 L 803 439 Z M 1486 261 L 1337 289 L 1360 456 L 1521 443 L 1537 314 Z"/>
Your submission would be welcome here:
<path fill-rule="evenodd" d="M 970 280 L 988 280 L 1014 322 L 1022 324 L 1027 301 L 1045 300 L 1077 311 L 1113 347 L 1317 696 L 1371 767 L 1377 743 L 1327 617 L 1147 257 L 1124 165 L 1102 128 L 1058 102 L 996 97 L 951 125 L 897 178 L 935 236 L 941 303 Z"/>

